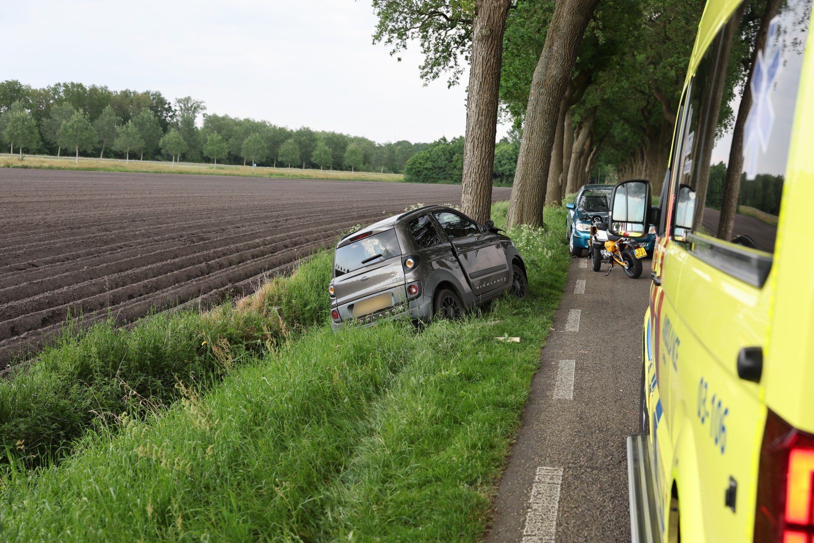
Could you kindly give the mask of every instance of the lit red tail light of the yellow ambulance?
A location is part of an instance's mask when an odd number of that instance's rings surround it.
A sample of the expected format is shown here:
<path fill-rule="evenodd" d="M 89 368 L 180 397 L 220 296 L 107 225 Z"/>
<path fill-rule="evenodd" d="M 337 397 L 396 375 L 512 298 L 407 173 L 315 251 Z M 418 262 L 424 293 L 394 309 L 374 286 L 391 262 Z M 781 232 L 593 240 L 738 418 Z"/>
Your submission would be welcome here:
<path fill-rule="evenodd" d="M 755 542 L 814 543 L 814 436 L 768 412 L 755 510 Z"/>

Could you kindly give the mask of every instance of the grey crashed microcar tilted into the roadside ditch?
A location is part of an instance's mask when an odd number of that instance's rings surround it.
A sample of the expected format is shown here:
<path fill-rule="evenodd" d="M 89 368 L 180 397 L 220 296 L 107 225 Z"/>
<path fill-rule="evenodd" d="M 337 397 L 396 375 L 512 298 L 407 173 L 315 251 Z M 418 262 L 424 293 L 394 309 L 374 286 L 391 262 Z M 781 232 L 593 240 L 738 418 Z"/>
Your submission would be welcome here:
<path fill-rule="evenodd" d="M 383 318 L 459 317 L 510 291 L 528 296 L 526 265 L 495 228 L 444 206 L 401 213 L 336 245 L 328 287 L 334 328 Z"/>

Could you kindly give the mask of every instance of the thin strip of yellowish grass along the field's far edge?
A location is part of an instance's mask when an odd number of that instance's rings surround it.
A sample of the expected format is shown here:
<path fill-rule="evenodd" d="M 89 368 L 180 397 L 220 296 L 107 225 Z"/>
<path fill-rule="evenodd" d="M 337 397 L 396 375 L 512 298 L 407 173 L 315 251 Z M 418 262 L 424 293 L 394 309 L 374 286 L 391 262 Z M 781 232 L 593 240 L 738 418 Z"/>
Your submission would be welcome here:
<path fill-rule="evenodd" d="M 135 172 L 135 173 L 192 173 L 195 175 L 226 175 L 236 177 L 277 177 L 286 179 L 337 179 L 342 181 L 390 181 L 403 182 L 400 173 L 376 172 L 342 172 L 321 169 L 298 168 L 256 168 L 251 166 L 218 166 L 213 169 L 210 164 L 156 164 L 130 160 L 90 160 L 80 157 L 79 164 L 74 159 L 45 159 L 34 156 L 17 158 L 0 157 L 0 168 L 31 169 L 72 169 L 98 172 Z"/>

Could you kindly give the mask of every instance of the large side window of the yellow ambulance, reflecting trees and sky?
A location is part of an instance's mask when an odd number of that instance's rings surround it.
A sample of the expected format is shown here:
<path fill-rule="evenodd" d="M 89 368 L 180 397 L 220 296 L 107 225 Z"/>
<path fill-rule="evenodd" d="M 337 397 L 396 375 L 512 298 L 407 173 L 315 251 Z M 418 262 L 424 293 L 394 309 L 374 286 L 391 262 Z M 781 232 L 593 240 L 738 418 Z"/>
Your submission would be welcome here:
<path fill-rule="evenodd" d="M 811 7 L 812 0 L 743 2 L 688 91 L 674 160 L 674 238 L 753 283 L 762 280 L 744 274 L 755 270 L 741 268 L 762 261 L 764 280 L 771 266 Z"/>

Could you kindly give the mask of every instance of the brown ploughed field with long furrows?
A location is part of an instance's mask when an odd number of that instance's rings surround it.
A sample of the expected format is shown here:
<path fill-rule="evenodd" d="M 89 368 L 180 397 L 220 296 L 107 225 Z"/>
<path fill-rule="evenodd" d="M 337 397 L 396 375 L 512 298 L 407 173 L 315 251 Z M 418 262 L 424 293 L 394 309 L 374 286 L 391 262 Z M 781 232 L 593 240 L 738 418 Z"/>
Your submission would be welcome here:
<path fill-rule="evenodd" d="M 243 296 L 351 226 L 460 197 L 453 185 L 0 169 L 0 368 L 68 313 L 125 323 Z"/>

